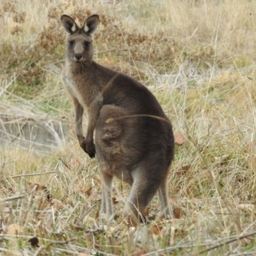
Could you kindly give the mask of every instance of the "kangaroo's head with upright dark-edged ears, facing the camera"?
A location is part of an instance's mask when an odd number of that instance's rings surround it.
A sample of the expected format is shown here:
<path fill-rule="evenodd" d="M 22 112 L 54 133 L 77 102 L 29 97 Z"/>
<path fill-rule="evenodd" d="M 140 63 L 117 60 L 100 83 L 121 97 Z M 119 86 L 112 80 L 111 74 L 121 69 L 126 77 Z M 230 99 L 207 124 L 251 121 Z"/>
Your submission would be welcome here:
<path fill-rule="evenodd" d="M 93 56 L 92 34 L 99 24 L 99 16 L 90 16 L 85 20 L 81 28 L 68 15 L 62 15 L 61 22 L 68 34 L 66 51 L 68 60 L 76 61 L 77 63 L 83 61 L 91 62 Z"/>

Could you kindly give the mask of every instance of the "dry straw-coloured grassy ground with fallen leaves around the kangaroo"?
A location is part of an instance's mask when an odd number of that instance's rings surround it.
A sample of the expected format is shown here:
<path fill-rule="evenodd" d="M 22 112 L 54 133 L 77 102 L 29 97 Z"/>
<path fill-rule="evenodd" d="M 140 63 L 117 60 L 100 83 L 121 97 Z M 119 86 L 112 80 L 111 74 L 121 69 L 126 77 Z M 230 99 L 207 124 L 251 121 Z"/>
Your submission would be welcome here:
<path fill-rule="evenodd" d="M 122 182 L 115 218 L 97 218 L 97 161 L 74 134 L 58 152 L 2 150 L 0 255 L 255 255 L 255 10 L 249 0 L 0 0 L 1 114 L 72 122 L 60 16 L 98 13 L 95 60 L 148 86 L 177 139 L 175 218 L 137 228 L 122 223 Z M 158 209 L 154 198 L 148 216 Z"/>

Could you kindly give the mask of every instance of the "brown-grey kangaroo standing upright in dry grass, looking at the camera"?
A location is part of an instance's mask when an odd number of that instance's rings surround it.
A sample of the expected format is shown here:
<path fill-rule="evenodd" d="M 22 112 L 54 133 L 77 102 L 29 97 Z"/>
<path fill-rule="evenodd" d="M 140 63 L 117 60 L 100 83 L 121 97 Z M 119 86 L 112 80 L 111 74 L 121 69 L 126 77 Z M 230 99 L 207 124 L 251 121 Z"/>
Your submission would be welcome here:
<path fill-rule="evenodd" d="M 99 24 L 98 15 L 88 17 L 82 27 L 68 15 L 62 15 L 61 22 L 67 32 L 62 81 L 74 104 L 79 145 L 99 161 L 100 214 L 113 214 L 111 190 L 113 177 L 117 177 L 131 187 L 124 218 L 140 223 L 156 192 L 161 215 L 172 218 L 167 188 L 174 155 L 171 122 L 145 86 L 93 61 L 92 34 Z M 85 137 L 84 111 L 88 116 Z"/>

